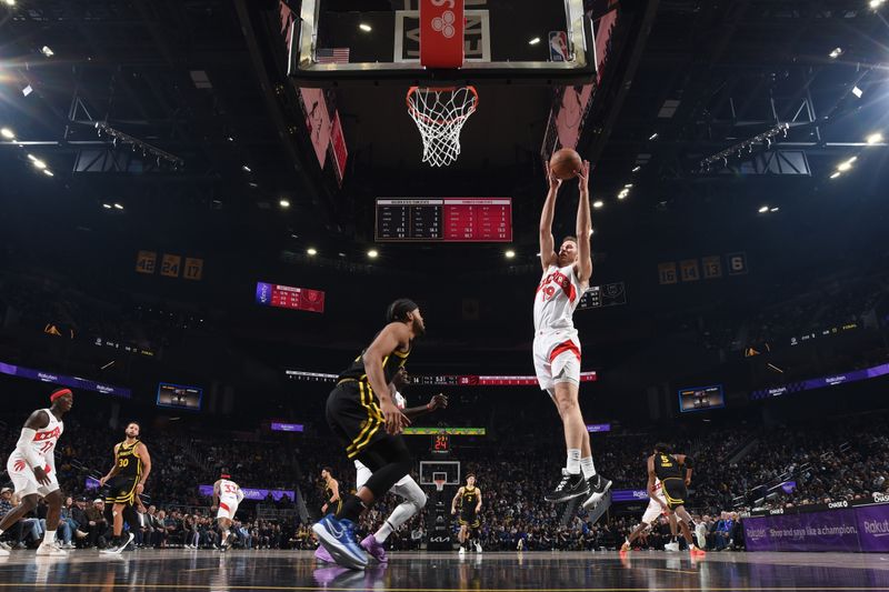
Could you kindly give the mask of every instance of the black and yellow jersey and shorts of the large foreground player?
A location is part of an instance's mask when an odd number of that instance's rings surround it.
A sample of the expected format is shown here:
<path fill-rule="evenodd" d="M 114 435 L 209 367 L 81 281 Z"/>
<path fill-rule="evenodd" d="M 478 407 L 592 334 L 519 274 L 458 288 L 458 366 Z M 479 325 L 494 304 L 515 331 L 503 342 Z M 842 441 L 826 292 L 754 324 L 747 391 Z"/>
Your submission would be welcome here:
<path fill-rule="evenodd" d="M 386 383 L 392 382 L 398 370 L 408 361 L 408 351 L 393 351 L 382 361 Z M 386 420 L 377 404 L 364 371 L 364 352 L 340 373 L 337 387 L 327 400 L 327 421 L 346 446 L 350 459 L 358 456 L 373 442 L 386 438 Z"/>

